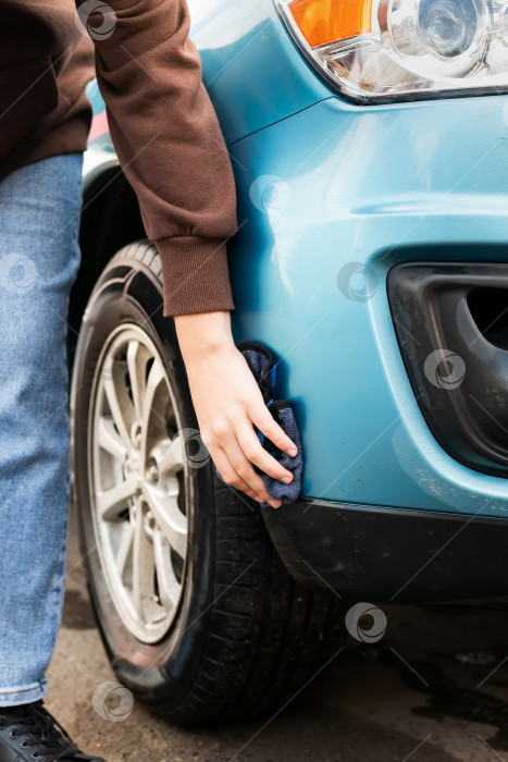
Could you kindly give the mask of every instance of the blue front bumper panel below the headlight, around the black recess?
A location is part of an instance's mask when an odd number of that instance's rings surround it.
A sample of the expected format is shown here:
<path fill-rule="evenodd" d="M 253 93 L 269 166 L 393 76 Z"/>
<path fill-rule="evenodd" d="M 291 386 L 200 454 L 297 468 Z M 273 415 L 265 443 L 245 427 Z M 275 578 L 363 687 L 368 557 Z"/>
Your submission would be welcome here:
<path fill-rule="evenodd" d="M 283 357 L 306 497 L 508 515 L 506 480 L 461 466 L 432 437 L 385 286 L 400 261 L 506 259 L 506 102 L 329 99 L 232 147 L 235 337 Z M 372 298 L 340 292 L 350 261 L 375 273 Z"/>

